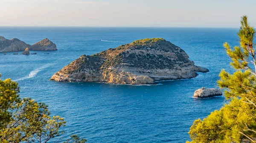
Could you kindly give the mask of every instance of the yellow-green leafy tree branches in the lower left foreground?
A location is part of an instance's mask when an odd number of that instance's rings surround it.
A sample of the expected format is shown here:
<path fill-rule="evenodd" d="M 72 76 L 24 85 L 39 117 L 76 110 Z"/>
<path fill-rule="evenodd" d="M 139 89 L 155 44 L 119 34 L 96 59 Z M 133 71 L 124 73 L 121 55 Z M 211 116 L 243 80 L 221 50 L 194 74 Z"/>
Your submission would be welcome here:
<path fill-rule="evenodd" d="M 1 75 L 0 75 L 1 77 Z M 15 81 L 0 80 L 0 143 L 60 143 L 66 122 L 50 116 L 47 105 L 31 98 L 20 98 L 20 87 Z M 64 143 L 84 143 L 71 135 Z"/>

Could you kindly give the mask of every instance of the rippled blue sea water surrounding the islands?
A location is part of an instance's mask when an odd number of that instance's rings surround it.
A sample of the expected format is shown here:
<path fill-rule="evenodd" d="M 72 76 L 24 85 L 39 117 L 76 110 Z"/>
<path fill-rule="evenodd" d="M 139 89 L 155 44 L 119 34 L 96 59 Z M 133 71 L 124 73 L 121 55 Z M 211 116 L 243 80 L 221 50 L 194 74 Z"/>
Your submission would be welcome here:
<path fill-rule="evenodd" d="M 49 105 L 52 115 L 67 121 L 62 139 L 77 134 L 88 143 L 184 143 L 193 121 L 220 109 L 223 96 L 196 99 L 201 87 L 218 87 L 221 69 L 232 72 L 224 42 L 239 45 L 239 28 L 68 28 L 0 27 L 0 36 L 33 44 L 44 38 L 57 51 L 37 55 L 0 53 L 1 79 L 19 83 L 20 96 Z M 209 73 L 193 79 L 152 86 L 49 81 L 82 54 L 91 55 L 137 39 L 162 37 L 179 46 Z M 33 52 L 33 51 L 32 51 Z M 9 54 L 8 53 L 8 54 Z M 19 52 L 21 53 L 21 52 Z M 49 54 L 44 54 L 49 53 Z"/>

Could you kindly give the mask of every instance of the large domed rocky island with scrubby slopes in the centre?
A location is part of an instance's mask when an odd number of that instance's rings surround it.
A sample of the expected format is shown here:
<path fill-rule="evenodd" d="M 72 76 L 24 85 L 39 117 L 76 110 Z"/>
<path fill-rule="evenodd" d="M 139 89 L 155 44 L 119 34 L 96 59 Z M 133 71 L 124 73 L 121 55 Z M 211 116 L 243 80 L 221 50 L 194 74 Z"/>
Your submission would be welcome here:
<path fill-rule="evenodd" d="M 161 38 L 142 39 L 92 56 L 82 55 L 50 80 L 154 84 L 187 79 L 209 70 L 194 65 L 184 50 Z"/>

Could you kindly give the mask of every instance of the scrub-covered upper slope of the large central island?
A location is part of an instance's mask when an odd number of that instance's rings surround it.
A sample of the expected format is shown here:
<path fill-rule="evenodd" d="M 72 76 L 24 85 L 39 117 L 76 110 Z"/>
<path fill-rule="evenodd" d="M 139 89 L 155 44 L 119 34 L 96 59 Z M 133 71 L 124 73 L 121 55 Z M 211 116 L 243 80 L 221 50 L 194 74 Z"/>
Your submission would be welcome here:
<path fill-rule="evenodd" d="M 164 53 L 175 56 L 166 56 Z M 159 53 L 159 54 L 156 54 Z M 109 67 L 133 67 L 143 69 L 166 69 L 193 64 L 185 51 L 163 38 L 140 39 L 117 48 L 96 53 L 91 56 L 82 55 L 79 59 L 64 67 L 65 74 L 93 70 L 95 73 L 107 71 Z"/>

